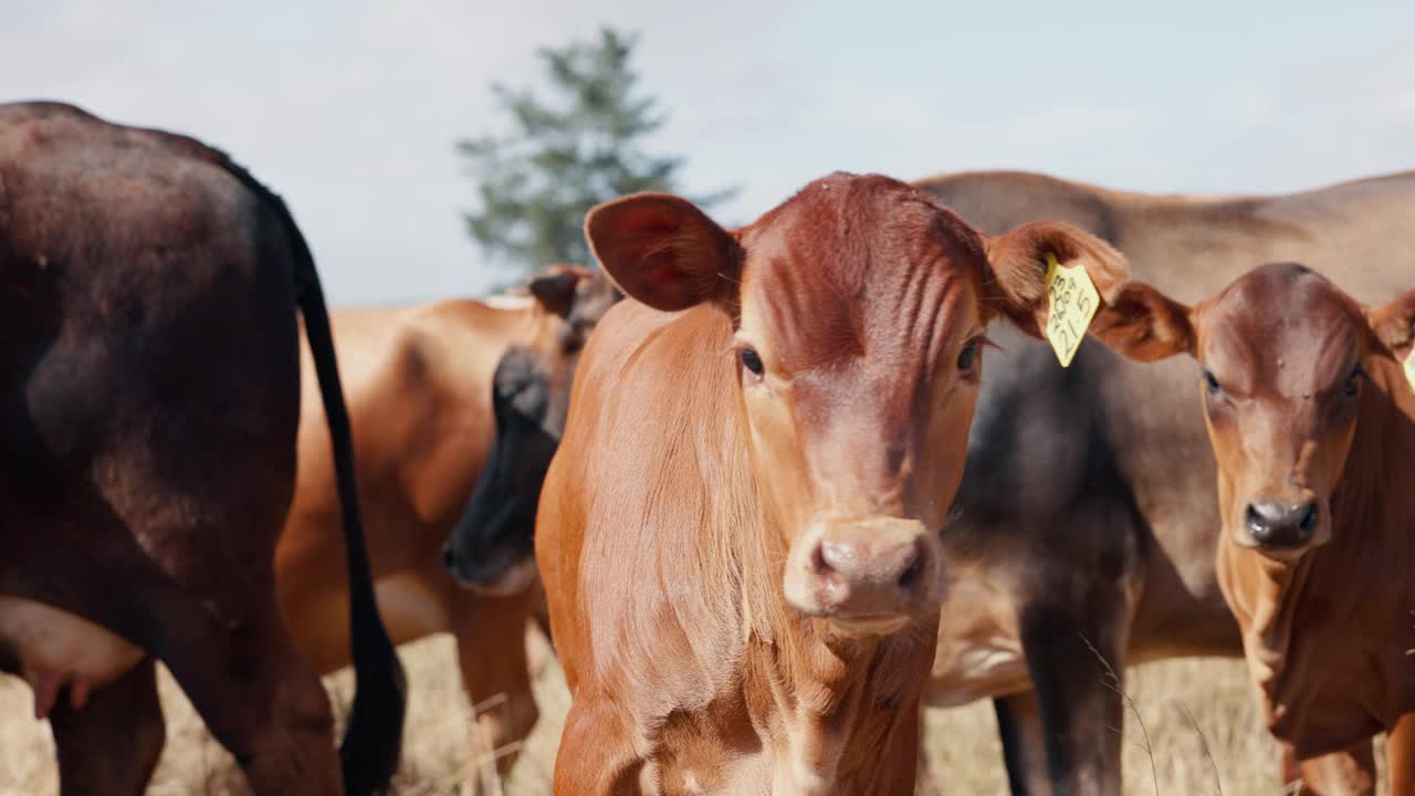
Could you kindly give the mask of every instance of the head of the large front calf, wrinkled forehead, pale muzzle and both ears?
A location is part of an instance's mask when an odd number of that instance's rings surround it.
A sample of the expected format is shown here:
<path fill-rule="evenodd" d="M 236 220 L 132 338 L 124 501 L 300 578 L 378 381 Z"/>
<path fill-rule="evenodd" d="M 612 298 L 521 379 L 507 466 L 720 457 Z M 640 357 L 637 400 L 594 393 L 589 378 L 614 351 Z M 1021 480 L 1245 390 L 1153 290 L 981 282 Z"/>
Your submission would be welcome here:
<path fill-rule="evenodd" d="M 877 176 L 818 180 L 732 232 L 685 200 L 641 194 L 591 211 L 586 234 L 627 295 L 730 319 L 733 344 L 712 356 L 736 373 L 751 483 L 780 537 L 763 541 L 784 550 L 785 599 L 850 633 L 937 610 L 937 530 L 962 476 L 988 322 L 1005 313 L 1036 333 L 1047 252 L 1085 262 L 1102 293 L 1125 278 L 1084 232 L 988 239 Z"/>

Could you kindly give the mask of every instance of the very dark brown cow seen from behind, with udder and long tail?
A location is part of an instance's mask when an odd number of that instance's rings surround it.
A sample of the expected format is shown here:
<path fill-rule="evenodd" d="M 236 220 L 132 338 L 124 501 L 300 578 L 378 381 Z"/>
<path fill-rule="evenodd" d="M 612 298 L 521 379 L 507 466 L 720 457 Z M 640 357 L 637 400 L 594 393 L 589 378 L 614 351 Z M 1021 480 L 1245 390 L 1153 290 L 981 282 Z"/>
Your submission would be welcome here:
<path fill-rule="evenodd" d="M 337 793 L 324 688 L 280 620 L 294 306 L 330 416 L 354 584 L 344 786 L 386 782 L 402 670 L 379 623 L 314 262 L 280 200 L 192 139 L 0 108 L 0 667 L 65 793 L 140 793 L 166 663 L 258 793 Z"/>

